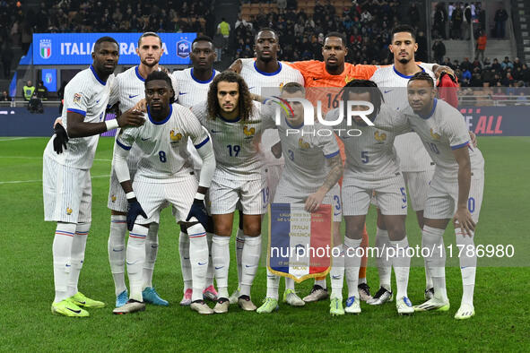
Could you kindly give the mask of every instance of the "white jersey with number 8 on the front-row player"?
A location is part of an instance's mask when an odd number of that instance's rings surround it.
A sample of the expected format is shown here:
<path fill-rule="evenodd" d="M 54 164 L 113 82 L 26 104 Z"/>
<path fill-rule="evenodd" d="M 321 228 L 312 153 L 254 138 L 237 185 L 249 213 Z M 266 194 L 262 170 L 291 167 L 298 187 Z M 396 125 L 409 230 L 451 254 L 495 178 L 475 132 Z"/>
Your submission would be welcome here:
<path fill-rule="evenodd" d="M 125 150 L 137 144 L 143 152 L 135 181 L 170 183 L 193 171 L 187 158 L 188 138 L 197 149 L 209 140 L 189 108 L 173 104 L 164 120 L 157 122 L 148 113 L 144 125 L 122 130 L 116 143 Z"/>

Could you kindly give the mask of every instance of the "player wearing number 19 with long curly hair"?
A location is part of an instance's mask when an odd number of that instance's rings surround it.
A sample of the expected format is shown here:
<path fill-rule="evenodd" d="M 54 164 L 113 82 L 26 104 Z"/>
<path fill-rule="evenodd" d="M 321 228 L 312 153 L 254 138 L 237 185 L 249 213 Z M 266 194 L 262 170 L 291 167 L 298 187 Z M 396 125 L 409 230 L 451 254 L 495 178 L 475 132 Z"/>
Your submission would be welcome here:
<path fill-rule="evenodd" d="M 227 313 L 230 306 L 229 245 L 233 212 L 239 203 L 243 211 L 245 245 L 241 254 L 238 304 L 243 310 L 254 311 L 256 306 L 250 300 L 250 288 L 261 254 L 261 193 L 265 189 L 258 142 L 267 127 L 261 120 L 262 115 L 273 116 L 274 109 L 253 102 L 247 83 L 239 74 L 224 72 L 213 79 L 207 102 L 195 105 L 192 111 L 211 134 L 217 161 L 210 189 L 214 227 L 212 260 L 219 290 L 213 310 Z"/>

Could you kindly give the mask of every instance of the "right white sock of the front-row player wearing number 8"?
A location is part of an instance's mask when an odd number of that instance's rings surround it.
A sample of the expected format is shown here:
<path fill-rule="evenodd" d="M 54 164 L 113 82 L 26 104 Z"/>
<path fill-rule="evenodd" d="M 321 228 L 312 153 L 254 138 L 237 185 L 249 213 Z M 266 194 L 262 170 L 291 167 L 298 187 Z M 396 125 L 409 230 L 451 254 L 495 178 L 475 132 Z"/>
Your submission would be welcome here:
<path fill-rule="evenodd" d="M 201 223 L 188 227 L 187 236 L 189 237 L 189 262 L 193 286 L 191 301 L 194 302 L 203 299 L 206 271 L 208 271 L 208 240 Z"/>

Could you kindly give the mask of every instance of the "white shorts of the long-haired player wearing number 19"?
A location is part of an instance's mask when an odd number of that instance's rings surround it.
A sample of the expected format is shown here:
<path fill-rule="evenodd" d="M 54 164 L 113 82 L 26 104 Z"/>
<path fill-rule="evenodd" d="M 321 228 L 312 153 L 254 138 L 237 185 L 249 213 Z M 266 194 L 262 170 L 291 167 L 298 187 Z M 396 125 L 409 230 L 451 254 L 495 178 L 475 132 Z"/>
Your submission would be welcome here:
<path fill-rule="evenodd" d="M 232 213 L 236 210 L 243 214 L 263 214 L 265 199 L 265 178 L 256 180 L 230 180 L 213 177 L 210 186 L 210 212 L 212 214 Z"/>

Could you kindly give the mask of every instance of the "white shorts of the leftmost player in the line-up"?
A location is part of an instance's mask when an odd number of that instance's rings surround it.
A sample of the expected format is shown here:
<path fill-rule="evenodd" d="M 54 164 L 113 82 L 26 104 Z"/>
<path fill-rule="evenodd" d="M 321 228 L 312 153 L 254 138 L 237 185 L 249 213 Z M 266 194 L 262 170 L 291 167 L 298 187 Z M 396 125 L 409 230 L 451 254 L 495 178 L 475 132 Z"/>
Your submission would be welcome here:
<path fill-rule="evenodd" d="M 42 194 L 44 220 L 65 223 L 91 221 L 90 169 L 66 167 L 44 156 Z"/>

